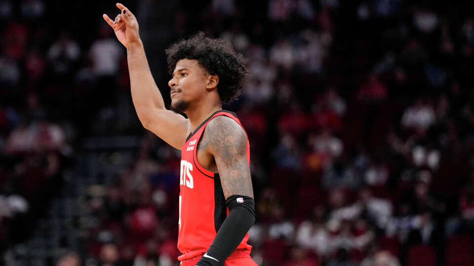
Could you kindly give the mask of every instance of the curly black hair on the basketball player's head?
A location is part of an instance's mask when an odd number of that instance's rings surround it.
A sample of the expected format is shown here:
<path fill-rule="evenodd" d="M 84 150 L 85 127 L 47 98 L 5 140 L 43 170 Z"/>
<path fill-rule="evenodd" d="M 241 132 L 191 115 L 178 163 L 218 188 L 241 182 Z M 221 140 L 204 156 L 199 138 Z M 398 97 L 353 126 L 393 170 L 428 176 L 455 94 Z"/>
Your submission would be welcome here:
<path fill-rule="evenodd" d="M 229 41 L 199 32 L 175 42 L 165 52 L 171 75 L 179 60 L 197 60 L 209 74 L 219 76 L 217 93 L 222 103 L 230 103 L 240 95 L 248 75 L 247 60 L 234 50 Z"/>

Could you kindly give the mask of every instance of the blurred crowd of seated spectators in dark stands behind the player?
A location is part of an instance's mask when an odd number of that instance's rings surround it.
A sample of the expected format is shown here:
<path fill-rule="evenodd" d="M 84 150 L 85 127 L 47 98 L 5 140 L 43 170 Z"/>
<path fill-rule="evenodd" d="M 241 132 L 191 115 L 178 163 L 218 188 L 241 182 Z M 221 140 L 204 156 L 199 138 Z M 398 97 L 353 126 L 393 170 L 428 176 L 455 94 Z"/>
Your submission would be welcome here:
<path fill-rule="evenodd" d="M 208 0 L 176 8 L 171 41 L 202 30 L 249 61 L 242 96 L 225 108 L 250 139 L 249 241 L 259 265 L 474 265 L 473 7 Z M 92 32 L 51 23 L 60 11 L 0 0 L 0 250 L 31 233 L 22 226 L 61 189 L 81 139 L 139 134 L 135 161 L 83 195 L 84 248 L 57 265 L 176 265 L 179 151 L 140 127 L 113 31 L 99 19 L 87 22 Z M 157 83 L 169 103 L 166 77 Z"/>

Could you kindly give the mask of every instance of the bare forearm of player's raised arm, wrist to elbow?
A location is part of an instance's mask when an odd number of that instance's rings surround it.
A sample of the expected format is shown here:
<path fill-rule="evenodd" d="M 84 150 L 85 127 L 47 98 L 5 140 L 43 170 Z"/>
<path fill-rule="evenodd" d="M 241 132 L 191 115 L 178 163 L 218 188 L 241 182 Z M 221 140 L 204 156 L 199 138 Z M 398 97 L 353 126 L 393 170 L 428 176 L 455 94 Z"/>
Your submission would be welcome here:
<path fill-rule="evenodd" d="M 138 118 L 145 125 L 152 109 L 164 109 L 164 102 L 148 66 L 143 43 L 127 47 L 128 72 L 133 105 Z"/>

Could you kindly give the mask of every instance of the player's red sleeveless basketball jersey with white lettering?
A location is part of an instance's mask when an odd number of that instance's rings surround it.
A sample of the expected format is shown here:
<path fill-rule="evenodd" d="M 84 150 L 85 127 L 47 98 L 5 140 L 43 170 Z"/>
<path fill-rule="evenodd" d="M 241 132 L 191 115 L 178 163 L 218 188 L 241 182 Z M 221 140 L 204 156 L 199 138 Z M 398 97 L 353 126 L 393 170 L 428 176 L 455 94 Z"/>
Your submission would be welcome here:
<path fill-rule="evenodd" d="M 188 136 L 181 148 L 178 249 L 183 255 L 178 257 L 180 261 L 204 254 L 229 213 L 219 174 L 204 169 L 197 162 L 199 139 L 207 123 L 220 115 L 234 119 L 242 127 L 235 113 L 217 111 Z M 248 138 L 247 161 L 250 162 Z M 252 246 L 247 245 L 247 240 L 248 233 L 236 251 L 250 252 Z M 229 258 L 241 254 L 241 252 L 235 254 L 236 251 Z"/>

